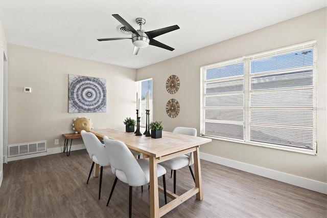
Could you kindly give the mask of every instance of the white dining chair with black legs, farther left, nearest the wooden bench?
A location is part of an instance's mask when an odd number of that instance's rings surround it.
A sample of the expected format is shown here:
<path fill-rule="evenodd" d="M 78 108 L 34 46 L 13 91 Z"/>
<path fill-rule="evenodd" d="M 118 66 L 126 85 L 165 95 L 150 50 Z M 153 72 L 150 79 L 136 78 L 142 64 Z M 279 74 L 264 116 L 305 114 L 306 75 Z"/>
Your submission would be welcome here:
<path fill-rule="evenodd" d="M 109 157 L 106 154 L 104 145 L 96 137 L 96 135 L 94 135 L 93 133 L 86 132 L 85 130 L 82 130 L 81 136 L 82 136 L 83 142 L 85 144 L 86 150 L 88 152 L 88 155 L 90 156 L 90 159 L 92 160 L 92 166 L 91 166 L 86 184 L 88 184 L 94 164 L 96 163 L 96 164 L 100 165 L 100 184 L 99 184 L 99 200 L 100 200 L 101 184 L 102 184 L 102 171 L 103 171 L 104 166 L 110 165 Z"/>

